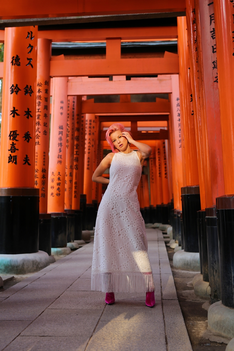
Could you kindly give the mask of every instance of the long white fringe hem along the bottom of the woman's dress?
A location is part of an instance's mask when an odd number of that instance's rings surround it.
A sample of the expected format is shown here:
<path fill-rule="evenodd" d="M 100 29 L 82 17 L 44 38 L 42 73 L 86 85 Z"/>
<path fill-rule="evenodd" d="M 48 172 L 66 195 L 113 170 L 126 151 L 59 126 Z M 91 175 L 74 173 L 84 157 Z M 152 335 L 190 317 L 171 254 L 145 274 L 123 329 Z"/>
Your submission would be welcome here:
<path fill-rule="evenodd" d="M 102 292 L 152 292 L 155 287 L 152 272 L 92 272 L 91 290 Z"/>

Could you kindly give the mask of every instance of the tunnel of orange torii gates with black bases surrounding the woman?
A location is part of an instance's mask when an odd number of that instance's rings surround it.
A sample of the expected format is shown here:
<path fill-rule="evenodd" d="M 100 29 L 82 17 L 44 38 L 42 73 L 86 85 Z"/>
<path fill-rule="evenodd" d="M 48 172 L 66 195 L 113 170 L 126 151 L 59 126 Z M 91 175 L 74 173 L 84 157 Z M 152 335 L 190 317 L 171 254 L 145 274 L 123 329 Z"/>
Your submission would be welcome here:
<path fill-rule="evenodd" d="M 2 12 L 0 254 L 50 255 L 93 230 L 105 186 L 92 174 L 111 151 L 106 130 L 121 122 L 152 147 L 137 189 L 145 223 L 172 225 L 181 252 L 199 255 L 212 302 L 233 308 L 234 7 L 160 4 L 139 22 L 138 1 L 120 1 L 96 27 L 36 12 L 30 25 L 26 9 L 19 26 Z M 106 13 L 92 6 L 70 15 Z M 125 13 L 134 26 L 111 25 Z"/>

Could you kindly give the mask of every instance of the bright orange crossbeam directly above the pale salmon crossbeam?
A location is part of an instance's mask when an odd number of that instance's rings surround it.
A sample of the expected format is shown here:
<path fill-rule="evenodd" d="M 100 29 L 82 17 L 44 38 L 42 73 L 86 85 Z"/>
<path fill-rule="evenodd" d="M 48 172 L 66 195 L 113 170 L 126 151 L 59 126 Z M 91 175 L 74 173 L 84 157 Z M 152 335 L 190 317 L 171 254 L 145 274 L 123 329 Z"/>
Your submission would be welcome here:
<path fill-rule="evenodd" d="M 147 59 L 52 60 L 51 77 L 178 74 L 178 56 Z M 79 63 L 79 64 L 78 64 Z"/>

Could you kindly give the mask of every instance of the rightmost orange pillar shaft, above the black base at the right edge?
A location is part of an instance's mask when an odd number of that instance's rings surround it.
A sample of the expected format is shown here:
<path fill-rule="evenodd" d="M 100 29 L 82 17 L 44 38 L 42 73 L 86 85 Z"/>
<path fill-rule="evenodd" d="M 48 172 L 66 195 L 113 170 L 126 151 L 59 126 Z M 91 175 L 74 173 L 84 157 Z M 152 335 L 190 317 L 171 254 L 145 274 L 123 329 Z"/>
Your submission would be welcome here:
<path fill-rule="evenodd" d="M 234 49 L 232 2 L 214 1 L 225 194 L 234 192 Z"/>

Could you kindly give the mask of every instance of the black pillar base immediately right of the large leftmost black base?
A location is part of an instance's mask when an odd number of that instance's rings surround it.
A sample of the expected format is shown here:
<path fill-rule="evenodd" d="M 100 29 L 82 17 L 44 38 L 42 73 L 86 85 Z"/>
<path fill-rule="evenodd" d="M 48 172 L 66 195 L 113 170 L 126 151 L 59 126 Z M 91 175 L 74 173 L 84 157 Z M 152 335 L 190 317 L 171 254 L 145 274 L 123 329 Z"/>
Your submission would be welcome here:
<path fill-rule="evenodd" d="M 51 256 L 51 213 L 39 214 L 39 250 Z"/>

